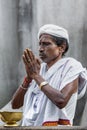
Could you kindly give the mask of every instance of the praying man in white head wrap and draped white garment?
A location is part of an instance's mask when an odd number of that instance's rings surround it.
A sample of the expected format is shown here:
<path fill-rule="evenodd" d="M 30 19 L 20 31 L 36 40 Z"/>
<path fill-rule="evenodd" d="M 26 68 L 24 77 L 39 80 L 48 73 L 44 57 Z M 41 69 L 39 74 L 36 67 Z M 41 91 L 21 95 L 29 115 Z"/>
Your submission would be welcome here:
<path fill-rule="evenodd" d="M 87 72 L 73 58 L 64 58 L 69 47 L 66 29 L 47 24 L 38 33 L 41 64 L 30 49 L 23 54 L 27 76 L 12 99 L 23 105 L 22 126 L 72 125 L 78 90 L 85 88 Z M 80 96 L 81 96 L 80 93 Z"/>

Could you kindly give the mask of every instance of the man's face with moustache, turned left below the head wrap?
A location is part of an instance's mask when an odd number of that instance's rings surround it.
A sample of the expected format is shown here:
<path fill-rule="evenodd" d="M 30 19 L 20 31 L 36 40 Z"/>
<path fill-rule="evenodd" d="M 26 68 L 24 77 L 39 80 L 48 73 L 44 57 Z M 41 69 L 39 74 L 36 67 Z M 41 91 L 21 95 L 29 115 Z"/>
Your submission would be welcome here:
<path fill-rule="evenodd" d="M 51 63 L 56 59 L 60 59 L 60 47 L 55 44 L 52 36 L 43 34 L 39 40 L 39 56 L 42 61 Z"/>

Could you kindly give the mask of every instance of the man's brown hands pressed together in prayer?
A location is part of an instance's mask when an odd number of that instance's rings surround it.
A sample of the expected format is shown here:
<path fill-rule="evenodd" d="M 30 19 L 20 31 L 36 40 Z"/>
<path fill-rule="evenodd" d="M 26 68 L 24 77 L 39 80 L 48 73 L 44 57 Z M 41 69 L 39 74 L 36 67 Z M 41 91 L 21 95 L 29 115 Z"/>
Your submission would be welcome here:
<path fill-rule="evenodd" d="M 28 79 L 34 79 L 34 76 L 39 74 L 40 60 L 36 58 L 33 52 L 28 48 L 25 49 L 22 58 L 25 64 Z"/>

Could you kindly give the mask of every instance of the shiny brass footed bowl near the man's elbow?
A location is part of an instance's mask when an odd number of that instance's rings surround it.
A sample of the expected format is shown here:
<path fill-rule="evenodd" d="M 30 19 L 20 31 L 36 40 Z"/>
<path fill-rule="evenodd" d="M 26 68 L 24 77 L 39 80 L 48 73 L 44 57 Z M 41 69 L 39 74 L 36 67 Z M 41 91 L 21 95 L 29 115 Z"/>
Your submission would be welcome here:
<path fill-rule="evenodd" d="M 22 119 L 22 112 L 0 112 L 0 117 L 6 124 L 4 126 L 18 126 L 17 122 Z"/>

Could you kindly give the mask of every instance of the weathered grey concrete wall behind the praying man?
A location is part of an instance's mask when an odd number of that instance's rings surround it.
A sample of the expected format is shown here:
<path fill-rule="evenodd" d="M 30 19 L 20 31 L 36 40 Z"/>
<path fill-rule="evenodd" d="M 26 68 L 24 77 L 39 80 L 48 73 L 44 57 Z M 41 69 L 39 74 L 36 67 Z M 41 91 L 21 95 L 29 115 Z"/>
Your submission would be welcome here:
<path fill-rule="evenodd" d="M 67 55 L 87 67 L 86 12 L 87 0 L 0 0 L 0 107 L 11 99 L 23 80 L 23 50 L 29 47 L 38 55 L 37 33 L 43 24 L 65 27 L 70 35 Z M 86 99 L 78 102 L 75 125 L 85 121 L 78 113 L 86 114 Z"/>

